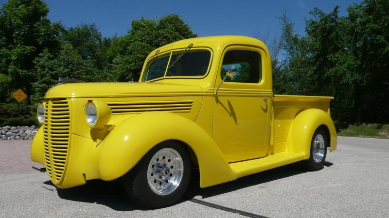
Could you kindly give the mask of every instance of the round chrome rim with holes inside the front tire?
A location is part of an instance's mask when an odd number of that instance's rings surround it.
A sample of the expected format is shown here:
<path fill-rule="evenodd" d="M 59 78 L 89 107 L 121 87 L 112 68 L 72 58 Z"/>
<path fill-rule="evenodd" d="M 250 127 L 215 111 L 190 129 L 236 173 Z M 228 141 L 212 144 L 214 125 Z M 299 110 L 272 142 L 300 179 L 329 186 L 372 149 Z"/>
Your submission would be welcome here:
<path fill-rule="evenodd" d="M 179 186 L 184 173 L 182 157 L 173 148 L 159 150 L 150 160 L 147 180 L 158 195 L 168 195 Z"/>

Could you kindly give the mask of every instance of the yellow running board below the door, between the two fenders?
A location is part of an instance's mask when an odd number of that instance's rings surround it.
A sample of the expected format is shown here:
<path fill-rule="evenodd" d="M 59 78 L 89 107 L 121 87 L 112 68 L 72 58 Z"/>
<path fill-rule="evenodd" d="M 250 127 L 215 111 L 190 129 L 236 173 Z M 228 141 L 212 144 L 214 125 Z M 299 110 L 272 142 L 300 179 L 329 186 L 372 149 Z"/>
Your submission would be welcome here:
<path fill-rule="evenodd" d="M 276 167 L 298 162 L 304 159 L 303 154 L 281 152 L 258 159 L 230 163 L 230 167 L 236 172 L 238 178 L 253 173 L 267 171 Z"/>

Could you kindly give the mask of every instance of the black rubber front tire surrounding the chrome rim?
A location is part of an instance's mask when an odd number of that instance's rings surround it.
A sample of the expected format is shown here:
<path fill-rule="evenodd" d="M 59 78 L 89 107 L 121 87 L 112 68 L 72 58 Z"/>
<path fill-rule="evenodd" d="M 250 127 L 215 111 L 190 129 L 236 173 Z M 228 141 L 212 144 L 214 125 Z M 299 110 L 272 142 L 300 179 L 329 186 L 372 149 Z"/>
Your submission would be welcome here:
<path fill-rule="evenodd" d="M 152 185 L 149 185 L 148 175 L 149 165 L 154 155 L 156 155 L 162 149 L 174 149 L 182 158 L 183 163 L 183 173 L 181 180 L 178 183 L 178 186 L 171 192 L 166 195 L 159 195 L 153 189 Z M 155 160 L 153 160 L 155 161 Z M 152 165 L 154 166 L 154 165 Z M 160 165 L 162 166 L 162 165 Z M 153 168 L 154 169 L 154 168 Z M 151 169 L 151 171 L 154 171 Z M 164 170 L 162 170 L 164 171 Z M 159 171 L 159 173 L 162 173 Z M 162 142 L 152 148 L 140 161 L 139 163 L 124 175 L 124 188 L 131 198 L 131 200 L 143 207 L 147 208 L 160 208 L 166 207 L 177 202 L 188 187 L 192 171 L 192 163 L 187 149 L 178 144 L 177 142 L 167 141 Z M 165 173 L 165 172 L 163 172 Z M 165 175 L 165 174 L 164 174 Z M 155 175 L 157 176 L 157 174 Z M 166 174 L 167 176 L 167 174 Z M 166 180 L 167 181 L 167 180 Z M 155 183 L 155 180 L 154 180 Z M 168 183 L 168 182 L 166 182 Z"/>

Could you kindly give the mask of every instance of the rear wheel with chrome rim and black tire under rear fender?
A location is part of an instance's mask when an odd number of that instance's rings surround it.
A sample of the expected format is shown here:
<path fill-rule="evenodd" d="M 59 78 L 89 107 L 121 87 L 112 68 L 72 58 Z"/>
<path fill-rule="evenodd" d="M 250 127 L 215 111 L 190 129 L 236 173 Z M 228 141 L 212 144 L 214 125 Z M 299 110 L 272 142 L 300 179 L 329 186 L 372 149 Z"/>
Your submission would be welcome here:
<path fill-rule="evenodd" d="M 323 129 L 317 129 L 311 140 L 310 156 L 305 160 L 305 168 L 309 171 L 318 171 L 323 168 L 327 156 L 328 136 Z"/>

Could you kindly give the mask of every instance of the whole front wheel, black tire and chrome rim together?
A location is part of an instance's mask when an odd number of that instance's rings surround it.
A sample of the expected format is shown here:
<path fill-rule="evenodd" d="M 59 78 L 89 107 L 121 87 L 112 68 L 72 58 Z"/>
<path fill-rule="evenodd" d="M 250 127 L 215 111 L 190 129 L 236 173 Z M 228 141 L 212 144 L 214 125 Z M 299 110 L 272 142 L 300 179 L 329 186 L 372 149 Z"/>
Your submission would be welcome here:
<path fill-rule="evenodd" d="M 185 147 L 175 142 L 163 142 L 151 149 L 124 176 L 124 187 L 129 197 L 141 206 L 168 206 L 184 194 L 191 168 Z"/>

